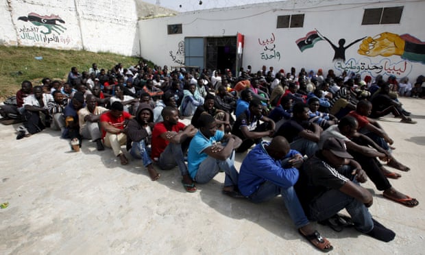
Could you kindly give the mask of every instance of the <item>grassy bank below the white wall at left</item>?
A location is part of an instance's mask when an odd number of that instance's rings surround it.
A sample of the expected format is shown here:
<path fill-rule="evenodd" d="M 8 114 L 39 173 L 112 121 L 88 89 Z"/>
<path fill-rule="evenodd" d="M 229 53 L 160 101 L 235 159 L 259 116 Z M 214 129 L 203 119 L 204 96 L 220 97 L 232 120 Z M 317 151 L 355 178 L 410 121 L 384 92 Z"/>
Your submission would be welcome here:
<path fill-rule="evenodd" d="M 113 53 L 0 46 L 0 101 L 14 95 L 23 80 L 30 80 L 34 86 L 41 84 L 43 77 L 65 80 L 72 66 L 77 66 L 80 72 L 88 71 L 94 62 L 99 69 L 110 69 L 119 62 L 124 67 L 135 65 L 138 58 Z"/>

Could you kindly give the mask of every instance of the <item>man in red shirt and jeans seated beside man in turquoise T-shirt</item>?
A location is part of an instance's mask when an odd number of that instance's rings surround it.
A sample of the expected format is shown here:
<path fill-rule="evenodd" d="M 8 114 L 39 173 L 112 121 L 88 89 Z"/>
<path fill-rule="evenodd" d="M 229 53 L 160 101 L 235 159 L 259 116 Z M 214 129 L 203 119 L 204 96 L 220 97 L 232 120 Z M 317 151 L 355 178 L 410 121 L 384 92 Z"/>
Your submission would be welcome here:
<path fill-rule="evenodd" d="M 184 154 L 197 129 L 193 125 L 186 126 L 179 122 L 178 110 L 171 106 L 166 106 L 162 110 L 162 119 L 164 121 L 156 123 L 152 131 L 151 158 L 158 162 L 162 170 L 178 166 L 182 174 L 184 189 L 187 192 L 195 192 L 196 186 L 184 163 Z"/>

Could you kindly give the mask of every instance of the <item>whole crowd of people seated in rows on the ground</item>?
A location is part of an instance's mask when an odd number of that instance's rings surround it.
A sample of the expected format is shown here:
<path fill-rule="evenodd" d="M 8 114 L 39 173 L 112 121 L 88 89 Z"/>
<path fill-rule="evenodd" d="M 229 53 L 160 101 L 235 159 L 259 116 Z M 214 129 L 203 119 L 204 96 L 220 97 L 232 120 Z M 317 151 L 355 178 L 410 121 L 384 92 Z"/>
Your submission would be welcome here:
<path fill-rule="evenodd" d="M 401 175 L 383 162 L 410 168 L 393 156 L 394 141 L 376 119 L 393 114 L 415 123 L 398 97 L 423 97 L 424 77 L 411 86 L 408 78 L 362 80 L 332 70 L 327 77 L 321 69 L 248 70 L 234 77 L 230 69 L 168 70 L 142 61 L 108 71 L 93 64 L 81 74 L 72 67 L 66 82 L 45 78 L 33 87 L 24 81 L 16 104 L 1 106 L 1 114 L 23 121 L 16 139 L 51 127 L 75 151 L 88 139 L 98 151 L 111 148 L 121 165 L 130 154 L 153 181 L 160 178 L 155 165 L 178 167 L 189 193 L 222 171 L 226 195 L 255 203 L 282 195 L 300 234 L 322 251 L 332 245 L 310 221 L 336 230 L 343 208 L 356 230 L 391 241 L 395 233 L 370 215 L 373 196 L 359 183 L 369 178 L 387 199 L 419 204 L 390 184 Z M 191 124 L 180 121 L 185 118 Z M 239 171 L 235 153 L 245 154 Z"/>

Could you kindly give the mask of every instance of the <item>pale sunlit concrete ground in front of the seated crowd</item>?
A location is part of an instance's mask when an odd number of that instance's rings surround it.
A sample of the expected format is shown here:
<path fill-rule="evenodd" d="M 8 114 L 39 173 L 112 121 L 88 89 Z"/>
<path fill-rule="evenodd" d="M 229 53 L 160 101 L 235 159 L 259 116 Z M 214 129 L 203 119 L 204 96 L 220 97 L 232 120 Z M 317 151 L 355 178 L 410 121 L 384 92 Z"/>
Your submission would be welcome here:
<path fill-rule="evenodd" d="M 425 100 L 402 99 L 416 125 L 386 117 L 394 155 L 411 171 L 391 180 L 420 201 L 407 208 L 371 182 L 372 215 L 396 232 L 383 243 L 317 223 L 332 254 L 425 254 Z M 59 132 L 16 141 L 17 125 L 0 125 L 0 254 L 321 254 L 291 223 L 280 198 L 252 204 L 221 194 L 224 174 L 186 193 L 178 169 L 151 182 L 141 162 L 121 166 L 110 149 L 84 141 L 78 153 Z M 239 169 L 244 155 L 239 155 Z M 131 156 L 128 156 L 131 158 Z"/>

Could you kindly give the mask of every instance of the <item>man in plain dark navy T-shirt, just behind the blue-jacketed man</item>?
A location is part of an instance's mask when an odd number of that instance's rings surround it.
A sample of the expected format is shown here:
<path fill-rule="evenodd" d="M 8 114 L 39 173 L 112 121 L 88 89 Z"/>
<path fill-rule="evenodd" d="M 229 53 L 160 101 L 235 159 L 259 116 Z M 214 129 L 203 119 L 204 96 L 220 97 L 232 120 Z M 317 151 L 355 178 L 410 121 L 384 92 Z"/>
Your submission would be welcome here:
<path fill-rule="evenodd" d="M 276 136 L 284 136 L 291 143 L 291 148 L 300 151 L 308 157 L 313 156 L 317 150 L 321 127 L 308 121 L 310 109 L 302 102 L 296 103 L 293 108 L 293 117 L 285 121 L 276 132 Z"/>

